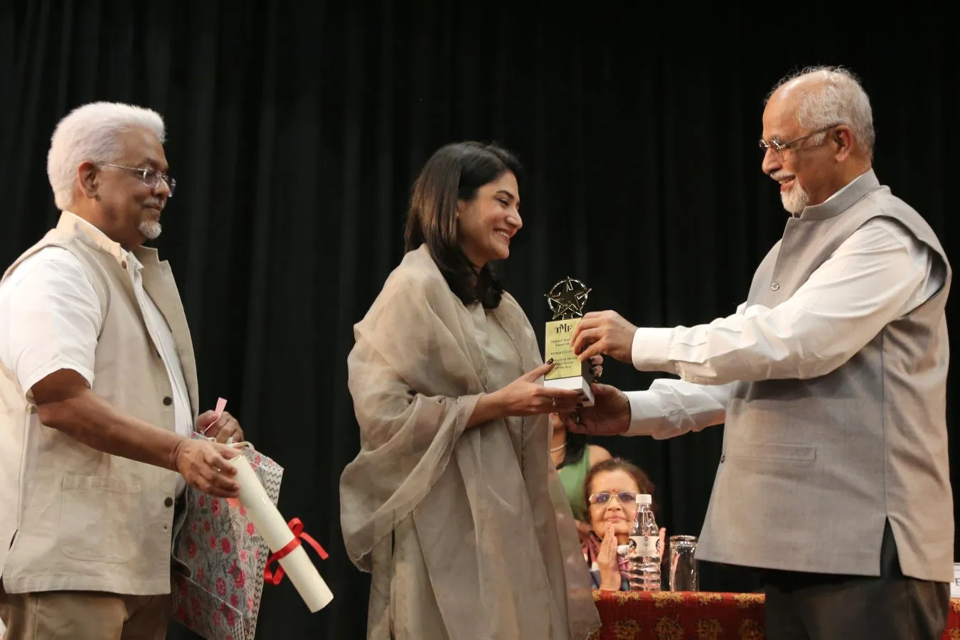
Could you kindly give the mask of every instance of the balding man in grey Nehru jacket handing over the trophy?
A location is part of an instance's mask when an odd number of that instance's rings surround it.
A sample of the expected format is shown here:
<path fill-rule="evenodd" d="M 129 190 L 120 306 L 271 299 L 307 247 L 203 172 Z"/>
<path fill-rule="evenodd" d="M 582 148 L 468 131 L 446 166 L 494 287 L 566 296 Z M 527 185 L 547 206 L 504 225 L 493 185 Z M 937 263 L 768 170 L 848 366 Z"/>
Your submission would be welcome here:
<path fill-rule="evenodd" d="M 757 570 L 769 640 L 934 640 L 953 578 L 947 255 L 877 180 L 870 101 L 846 70 L 781 81 L 762 136 L 790 217 L 746 301 L 691 327 L 586 315 L 581 358 L 680 380 L 597 386 L 570 428 L 726 423 L 698 557 Z"/>

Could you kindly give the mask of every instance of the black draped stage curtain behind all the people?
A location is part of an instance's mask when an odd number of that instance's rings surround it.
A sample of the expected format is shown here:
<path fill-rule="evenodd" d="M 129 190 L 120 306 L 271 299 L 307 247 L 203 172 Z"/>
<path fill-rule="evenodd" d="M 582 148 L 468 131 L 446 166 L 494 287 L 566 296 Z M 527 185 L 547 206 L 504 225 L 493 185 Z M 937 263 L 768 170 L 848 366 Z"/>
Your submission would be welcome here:
<path fill-rule="evenodd" d="M 593 288 L 590 308 L 641 325 L 731 314 L 785 222 L 759 171 L 762 100 L 805 64 L 862 76 L 877 176 L 955 248 L 945 184 L 956 179 L 960 71 L 940 13 L 753 21 L 683 3 L 456 4 L 0 10 L 3 265 L 55 223 L 45 162 L 60 117 L 119 100 L 166 118 L 178 192 L 156 246 L 178 276 L 202 406 L 228 398 L 249 439 L 286 468 L 282 513 L 331 553 L 319 568 L 333 603 L 310 615 L 288 581 L 268 585 L 258 638 L 363 637 L 368 580 L 345 556 L 338 511 L 340 472 L 358 449 L 351 325 L 399 261 L 409 186 L 444 143 L 496 140 L 529 169 L 505 268 L 535 326 L 543 293 L 567 274 Z M 653 379 L 606 370 L 624 389 Z M 602 444 L 650 473 L 669 533 L 699 533 L 721 438 L 716 427 Z M 705 589 L 756 586 L 708 565 L 702 576 Z"/>

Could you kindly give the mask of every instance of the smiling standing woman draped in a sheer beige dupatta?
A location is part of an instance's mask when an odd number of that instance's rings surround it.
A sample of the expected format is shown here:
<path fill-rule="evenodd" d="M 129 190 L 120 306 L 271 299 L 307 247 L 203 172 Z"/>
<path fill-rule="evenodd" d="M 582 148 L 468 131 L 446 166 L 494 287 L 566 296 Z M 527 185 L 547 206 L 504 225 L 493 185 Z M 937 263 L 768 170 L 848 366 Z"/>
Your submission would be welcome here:
<path fill-rule="evenodd" d="M 507 151 L 447 145 L 414 185 L 406 254 L 354 327 L 361 451 L 341 478 L 377 640 L 582 640 L 600 621 L 564 488 L 533 328 L 492 260 L 522 226 Z M 599 361 L 595 362 L 599 367 Z"/>

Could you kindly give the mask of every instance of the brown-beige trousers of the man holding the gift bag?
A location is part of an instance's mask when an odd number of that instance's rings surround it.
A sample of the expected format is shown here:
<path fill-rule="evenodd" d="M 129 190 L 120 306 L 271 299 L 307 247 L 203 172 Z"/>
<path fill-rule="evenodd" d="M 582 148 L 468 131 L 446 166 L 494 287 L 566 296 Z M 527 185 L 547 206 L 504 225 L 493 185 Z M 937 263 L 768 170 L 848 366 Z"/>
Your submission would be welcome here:
<path fill-rule="evenodd" d="M 4 640 L 163 640 L 170 596 L 93 591 L 3 593 Z"/>

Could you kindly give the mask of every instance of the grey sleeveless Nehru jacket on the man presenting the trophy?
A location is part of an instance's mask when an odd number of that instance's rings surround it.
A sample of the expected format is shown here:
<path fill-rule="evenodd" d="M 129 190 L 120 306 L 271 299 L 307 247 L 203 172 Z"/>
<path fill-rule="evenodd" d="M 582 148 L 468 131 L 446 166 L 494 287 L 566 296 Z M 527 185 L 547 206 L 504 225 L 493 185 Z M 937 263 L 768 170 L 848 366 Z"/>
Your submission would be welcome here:
<path fill-rule="evenodd" d="M 773 307 L 792 296 L 876 217 L 900 223 L 933 251 L 944 286 L 826 375 L 735 384 L 699 558 L 876 576 L 889 519 L 904 575 L 952 580 L 944 313 L 951 270 L 930 226 L 871 170 L 787 222 L 747 303 Z"/>

